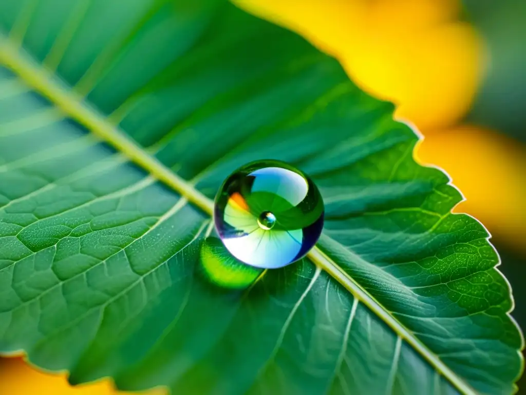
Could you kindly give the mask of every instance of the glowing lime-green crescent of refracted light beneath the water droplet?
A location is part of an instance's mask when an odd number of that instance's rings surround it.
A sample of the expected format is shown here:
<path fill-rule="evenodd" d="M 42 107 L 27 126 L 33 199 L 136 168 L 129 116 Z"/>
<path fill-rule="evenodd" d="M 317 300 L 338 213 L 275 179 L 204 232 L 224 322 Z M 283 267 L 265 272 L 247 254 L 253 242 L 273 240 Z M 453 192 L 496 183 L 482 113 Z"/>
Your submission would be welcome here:
<path fill-rule="evenodd" d="M 215 237 L 208 237 L 201 244 L 200 261 L 208 280 L 223 288 L 247 288 L 264 272 L 264 269 L 238 261 Z"/>

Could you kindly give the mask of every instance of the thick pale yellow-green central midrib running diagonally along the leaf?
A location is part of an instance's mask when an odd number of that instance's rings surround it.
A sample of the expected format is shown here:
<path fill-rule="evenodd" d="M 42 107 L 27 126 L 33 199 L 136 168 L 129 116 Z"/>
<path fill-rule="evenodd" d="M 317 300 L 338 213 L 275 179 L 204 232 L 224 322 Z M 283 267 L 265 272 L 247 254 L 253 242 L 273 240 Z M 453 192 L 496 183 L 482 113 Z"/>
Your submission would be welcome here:
<path fill-rule="evenodd" d="M 61 83 L 57 77 L 47 72 L 35 63 L 32 58 L 13 45 L 0 34 L 0 63 L 10 68 L 15 74 L 35 91 L 47 97 L 60 110 L 76 122 L 85 126 L 116 150 L 126 155 L 132 162 L 148 171 L 153 177 L 174 191 L 184 196 L 209 216 L 213 216 L 214 202 L 203 193 L 195 189 L 187 180 L 168 169 L 155 157 L 128 137 L 118 126 L 110 123 L 106 116 L 95 108 L 88 106 L 82 98 L 70 91 L 67 85 Z M 372 312 L 382 319 L 397 335 L 406 340 L 431 366 L 448 379 L 454 387 L 465 394 L 476 394 L 456 373 L 454 373 L 440 358 L 424 345 L 408 328 L 399 322 L 372 295 L 351 278 L 340 266 L 332 261 L 323 251 L 315 246 L 307 257 L 320 269 L 327 272 L 333 279 L 347 289 L 353 297 L 366 305 Z M 356 256 L 356 259 L 361 259 Z"/>

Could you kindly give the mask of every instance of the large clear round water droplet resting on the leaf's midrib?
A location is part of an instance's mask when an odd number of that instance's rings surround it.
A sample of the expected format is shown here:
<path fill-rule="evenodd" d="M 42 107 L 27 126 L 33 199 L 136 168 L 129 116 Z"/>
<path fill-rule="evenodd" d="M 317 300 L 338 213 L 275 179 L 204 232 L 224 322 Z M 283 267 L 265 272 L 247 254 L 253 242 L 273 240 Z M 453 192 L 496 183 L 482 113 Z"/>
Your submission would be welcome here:
<path fill-rule="evenodd" d="M 281 268 L 309 252 L 323 228 L 323 200 L 304 173 L 258 161 L 230 174 L 216 196 L 214 220 L 227 250 L 257 268 Z"/>

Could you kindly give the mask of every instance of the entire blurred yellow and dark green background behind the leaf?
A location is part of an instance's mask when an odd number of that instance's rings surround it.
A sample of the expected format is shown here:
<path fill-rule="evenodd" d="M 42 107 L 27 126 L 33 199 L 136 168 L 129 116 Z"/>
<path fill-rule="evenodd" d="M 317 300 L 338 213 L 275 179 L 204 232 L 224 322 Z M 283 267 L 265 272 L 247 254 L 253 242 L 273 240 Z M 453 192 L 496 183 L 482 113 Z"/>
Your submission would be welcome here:
<path fill-rule="evenodd" d="M 190 0 L 189 0 L 190 1 Z M 397 105 L 424 140 L 416 156 L 442 167 L 501 254 L 526 328 L 526 1 L 237 0 L 338 58 L 363 90 Z M 350 131 L 351 132 L 351 131 Z M 526 394 L 526 379 L 519 382 Z M 0 393 L 116 394 L 69 387 L 21 358 L 0 359 Z M 161 390 L 149 391 L 163 393 Z"/>

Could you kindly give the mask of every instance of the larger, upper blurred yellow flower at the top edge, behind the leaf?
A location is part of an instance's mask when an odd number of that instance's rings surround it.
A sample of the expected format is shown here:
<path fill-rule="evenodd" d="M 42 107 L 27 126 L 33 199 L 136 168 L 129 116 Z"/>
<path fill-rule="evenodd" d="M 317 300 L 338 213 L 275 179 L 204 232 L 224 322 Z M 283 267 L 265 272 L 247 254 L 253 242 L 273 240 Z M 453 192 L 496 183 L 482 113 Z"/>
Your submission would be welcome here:
<path fill-rule="evenodd" d="M 468 111 L 482 46 L 456 0 L 237 0 L 335 56 L 363 90 L 398 105 L 419 129 Z"/>

